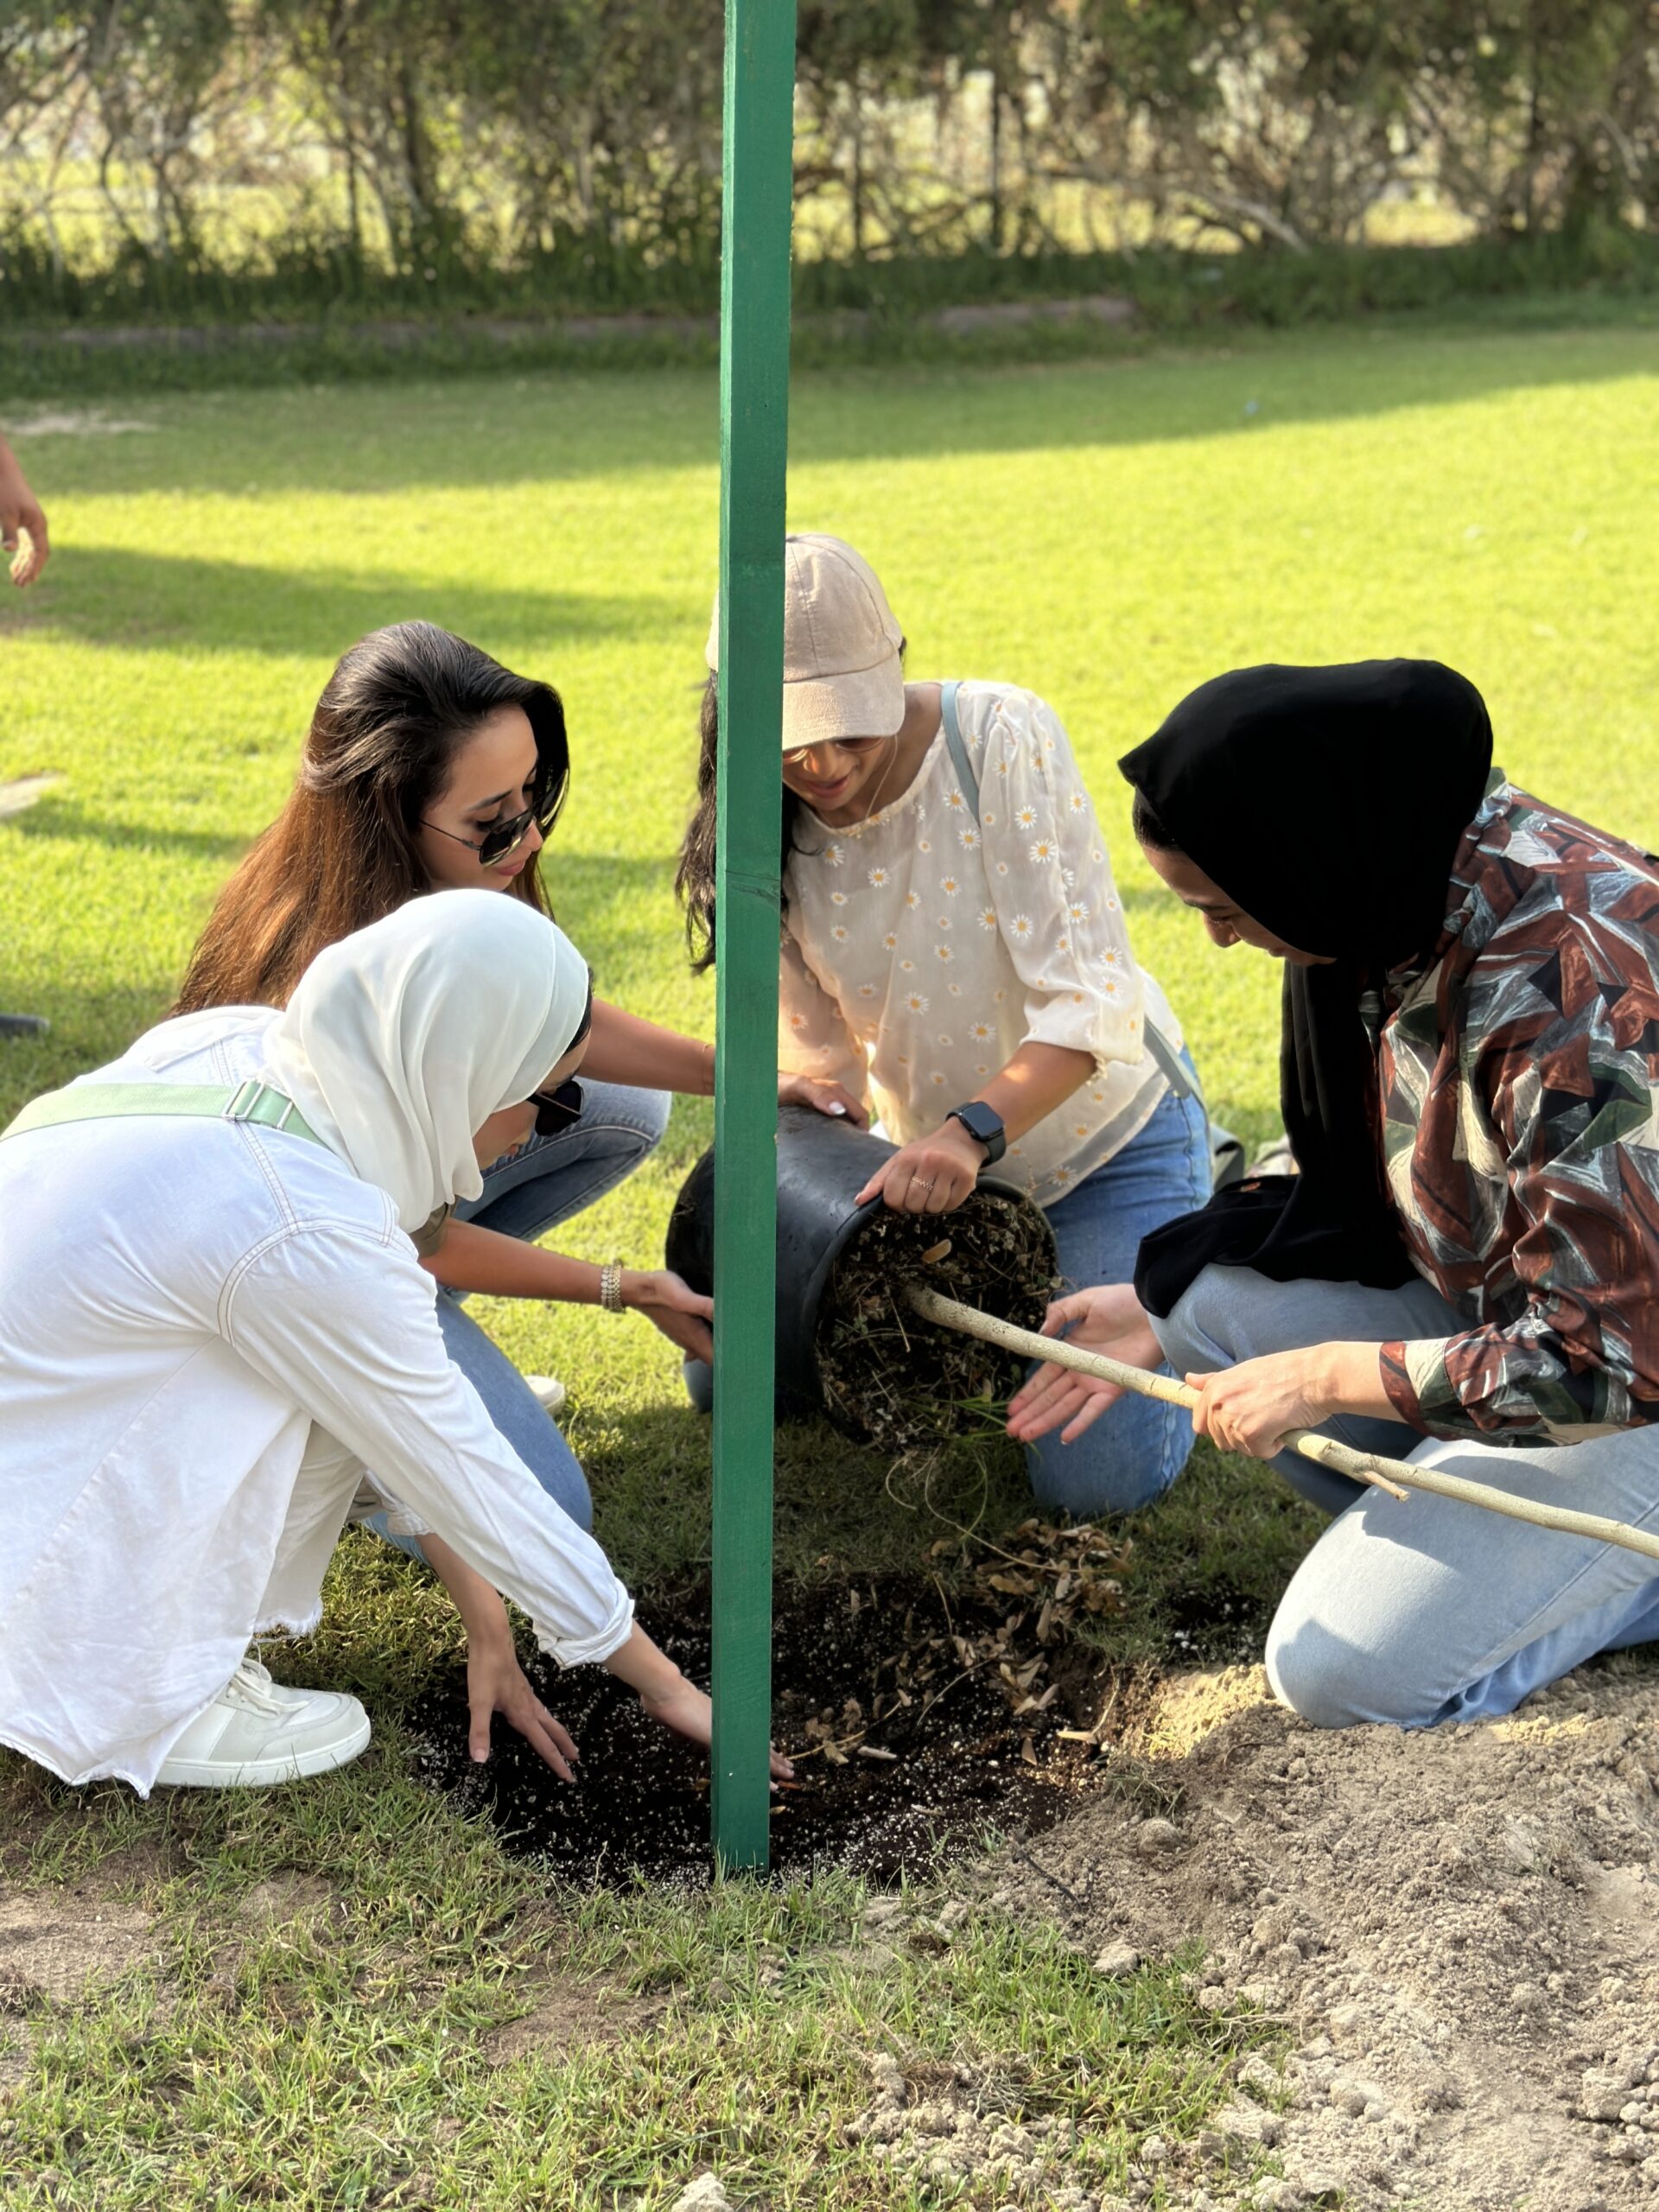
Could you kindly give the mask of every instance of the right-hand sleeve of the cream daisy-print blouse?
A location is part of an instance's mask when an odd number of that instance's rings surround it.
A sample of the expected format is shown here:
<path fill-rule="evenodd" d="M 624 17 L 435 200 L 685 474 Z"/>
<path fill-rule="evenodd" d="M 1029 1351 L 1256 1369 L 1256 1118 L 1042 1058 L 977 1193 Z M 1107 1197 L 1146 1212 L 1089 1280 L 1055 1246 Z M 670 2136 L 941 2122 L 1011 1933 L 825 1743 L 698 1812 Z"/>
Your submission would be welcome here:
<path fill-rule="evenodd" d="M 1026 989 L 1026 1037 L 1091 1053 L 1097 1068 L 1146 1053 L 1141 973 L 1066 730 L 1024 690 L 998 697 L 980 748 L 984 876 Z"/>

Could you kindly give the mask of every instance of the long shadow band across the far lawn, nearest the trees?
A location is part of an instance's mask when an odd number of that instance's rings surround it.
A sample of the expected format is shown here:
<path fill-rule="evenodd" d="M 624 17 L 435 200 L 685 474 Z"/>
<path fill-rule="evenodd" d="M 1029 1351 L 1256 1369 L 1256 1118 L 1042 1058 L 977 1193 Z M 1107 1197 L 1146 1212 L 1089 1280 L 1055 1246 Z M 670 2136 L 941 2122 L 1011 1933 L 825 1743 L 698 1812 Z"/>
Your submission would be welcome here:
<path fill-rule="evenodd" d="M 1405 407 L 1444 407 L 1500 392 L 1588 385 L 1639 374 L 1652 334 L 1632 312 L 1597 330 L 1484 330 L 1431 319 L 1287 334 L 1217 332 L 1190 349 L 1099 358 L 1057 341 L 1051 361 L 914 361 L 799 369 L 790 407 L 796 467 L 883 458 L 949 458 L 1044 447 L 1259 436 L 1270 425 L 1329 422 Z M 1071 354 L 1071 356 L 1068 356 Z M 387 398 L 387 387 L 396 398 Z M 872 405 L 872 394 L 880 405 Z M 327 409 L 319 411 L 325 394 Z M 40 436 L 31 473 L 64 493 L 396 491 L 557 482 L 630 469 L 710 469 L 717 380 L 706 367 L 526 367 L 449 380 L 316 383 L 272 392 L 175 394 L 133 405 L 164 434 Z M 1024 398 L 1020 398 L 1024 394 Z M 1040 398 L 1037 398 L 1040 394 Z M 190 438 L 166 436 L 164 411 L 190 407 Z M 1245 407 L 1252 411 L 1245 414 Z M 591 434 L 602 411 L 604 438 Z M 259 416 L 250 456 L 246 414 Z M 416 425 L 429 422 L 422 434 Z M 321 425 L 321 427 L 319 427 Z M 146 449 L 150 449 L 146 453 Z M 341 449 L 349 456 L 336 465 Z M 257 482 L 254 482 L 257 478 Z M 442 507 L 434 509 L 442 520 Z M 66 562 L 71 553 L 60 553 Z M 367 624 L 363 624 L 367 626 Z"/>

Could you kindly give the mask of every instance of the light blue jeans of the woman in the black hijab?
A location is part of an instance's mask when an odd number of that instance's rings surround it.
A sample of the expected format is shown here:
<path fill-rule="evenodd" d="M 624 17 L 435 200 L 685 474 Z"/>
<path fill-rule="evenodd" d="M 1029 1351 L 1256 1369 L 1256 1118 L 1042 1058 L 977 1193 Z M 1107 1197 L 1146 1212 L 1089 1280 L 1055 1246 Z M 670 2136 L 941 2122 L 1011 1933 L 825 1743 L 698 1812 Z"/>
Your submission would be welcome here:
<path fill-rule="evenodd" d="M 1438 1338 L 1467 1325 L 1427 1283 L 1270 1283 L 1250 1267 L 1206 1267 L 1155 1323 L 1166 1358 L 1194 1374 L 1303 1345 Z M 1321 1427 L 1360 1451 L 1444 1467 L 1513 1498 L 1659 1528 L 1659 1427 L 1544 1449 L 1436 1442 L 1352 1413 Z M 1659 1571 L 1641 1553 L 1451 1498 L 1400 1502 L 1292 1451 L 1272 1464 L 1336 1515 L 1267 1632 L 1274 1694 L 1318 1728 L 1433 1728 L 1513 1712 L 1595 1652 L 1659 1641 Z"/>

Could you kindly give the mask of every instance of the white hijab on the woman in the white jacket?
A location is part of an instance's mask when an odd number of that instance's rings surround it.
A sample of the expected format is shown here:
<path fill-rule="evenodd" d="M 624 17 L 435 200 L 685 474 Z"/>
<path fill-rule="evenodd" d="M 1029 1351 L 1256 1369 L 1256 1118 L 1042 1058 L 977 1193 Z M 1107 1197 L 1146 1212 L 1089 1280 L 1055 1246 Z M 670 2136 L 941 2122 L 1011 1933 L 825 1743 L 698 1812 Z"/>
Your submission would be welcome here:
<path fill-rule="evenodd" d="M 330 945 L 270 1033 L 272 1082 L 414 1232 L 484 1188 L 473 1135 L 582 1026 L 575 945 L 502 891 L 427 891 Z"/>

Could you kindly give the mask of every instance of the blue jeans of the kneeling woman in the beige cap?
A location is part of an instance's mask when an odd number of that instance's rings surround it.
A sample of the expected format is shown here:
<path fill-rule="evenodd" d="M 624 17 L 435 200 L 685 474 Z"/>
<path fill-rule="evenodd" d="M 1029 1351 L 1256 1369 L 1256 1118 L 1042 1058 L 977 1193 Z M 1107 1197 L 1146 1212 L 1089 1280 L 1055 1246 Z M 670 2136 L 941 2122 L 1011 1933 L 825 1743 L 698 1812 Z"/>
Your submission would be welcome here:
<path fill-rule="evenodd" d="M 1181 1055 L 1186 1066 L 1192 1062 Z M 1048 1208 L 1062 1290 L 1128 1283 L 1141 1237 L 1210 1197 L 1210 1126 L 1197 1097 L 1159 1099 L 1121 1152 Z M 1150 1504 L 1186 1467 L 1192 1416 L 1157 1398 L 1119 1398 L 1075 1444 L 1060 1431 L 1026 1444 L 1031 1489 L 1044 1506 L 1088 1517 Z"/>

